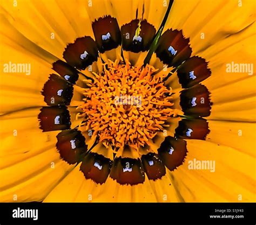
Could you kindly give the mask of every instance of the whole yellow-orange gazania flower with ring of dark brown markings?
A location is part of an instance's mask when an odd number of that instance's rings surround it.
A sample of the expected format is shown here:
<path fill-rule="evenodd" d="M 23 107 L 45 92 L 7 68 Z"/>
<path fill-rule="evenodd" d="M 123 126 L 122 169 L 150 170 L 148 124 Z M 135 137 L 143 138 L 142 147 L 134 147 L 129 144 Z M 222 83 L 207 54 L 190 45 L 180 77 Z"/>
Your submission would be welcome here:
<path fill-rule="evenodd" d="M 0 201 L 255 201 L 253 1 L 3 1 Z"/>

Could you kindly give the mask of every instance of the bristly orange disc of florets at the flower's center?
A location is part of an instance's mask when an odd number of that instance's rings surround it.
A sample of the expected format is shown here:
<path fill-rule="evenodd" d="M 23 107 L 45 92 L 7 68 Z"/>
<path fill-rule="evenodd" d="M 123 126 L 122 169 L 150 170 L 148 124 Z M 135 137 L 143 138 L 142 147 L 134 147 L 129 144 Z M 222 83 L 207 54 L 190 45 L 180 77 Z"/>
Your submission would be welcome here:
<path fill-rule="evenodd" d="M 114 151 L 124 146 L 138 151 L 140 146 L 149 145 L 174 114 L 172 90 L 164 86 L 166 75 L 156 71 L 150 65 L 104 64 L 79 107 L 85 129 L 105 146 L 111 144 Z"/>

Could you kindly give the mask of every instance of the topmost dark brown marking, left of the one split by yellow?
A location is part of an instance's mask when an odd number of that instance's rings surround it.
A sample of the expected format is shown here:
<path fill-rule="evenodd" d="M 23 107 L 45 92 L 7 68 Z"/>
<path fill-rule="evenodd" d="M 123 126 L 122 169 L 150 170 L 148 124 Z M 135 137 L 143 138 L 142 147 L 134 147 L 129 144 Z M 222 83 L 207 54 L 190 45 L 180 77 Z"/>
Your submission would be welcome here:
<path fill-rule="evenodd" d="M 92 23 L 92 30 L 100 53 L 112 50 L 121 44 L 122 37 L 116 18 L 100 17 Z"/>

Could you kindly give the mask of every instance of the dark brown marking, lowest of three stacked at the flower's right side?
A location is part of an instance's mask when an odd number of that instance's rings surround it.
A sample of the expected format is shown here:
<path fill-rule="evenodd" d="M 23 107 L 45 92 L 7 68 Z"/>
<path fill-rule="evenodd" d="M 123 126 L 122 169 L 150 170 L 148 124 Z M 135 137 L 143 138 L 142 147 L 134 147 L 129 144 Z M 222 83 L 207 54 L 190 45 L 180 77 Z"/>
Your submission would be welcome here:
<path fill-rule="evenodd" d="M 205 140 L 210 132 L 206 119 L 182 119 L 179 121 L 178 128 L 175 129 L 176 136 L 184 139 Z"/>

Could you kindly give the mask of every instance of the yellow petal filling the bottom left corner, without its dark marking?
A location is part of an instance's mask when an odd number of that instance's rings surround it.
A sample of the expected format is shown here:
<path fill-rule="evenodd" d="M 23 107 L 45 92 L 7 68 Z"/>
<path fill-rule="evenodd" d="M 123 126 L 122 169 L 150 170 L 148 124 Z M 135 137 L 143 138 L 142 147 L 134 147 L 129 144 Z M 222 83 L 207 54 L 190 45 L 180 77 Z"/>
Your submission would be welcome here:
<path fill-rule="evenodd" d="M 59 159 L 55 148 L 6 167 L 0 172 L 0 199 L 42 201 L 71 169 L 72 166 Z"/>

